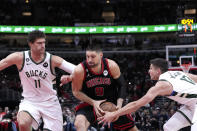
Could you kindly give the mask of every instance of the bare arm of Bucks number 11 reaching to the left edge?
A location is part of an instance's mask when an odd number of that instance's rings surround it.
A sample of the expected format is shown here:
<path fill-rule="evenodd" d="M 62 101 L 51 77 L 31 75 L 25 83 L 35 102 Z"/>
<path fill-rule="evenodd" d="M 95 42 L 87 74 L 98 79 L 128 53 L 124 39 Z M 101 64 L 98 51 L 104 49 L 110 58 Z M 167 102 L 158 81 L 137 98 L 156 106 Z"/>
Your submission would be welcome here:
<path fill-rule="evenodd" d="M 21 68 L 23 63 L 23 53 L 15 52 L 8 55 L 6 58 L 0 61 L 0 70 L 3 70 L 11 65 L 16 65 L 18 69 Z"/>

